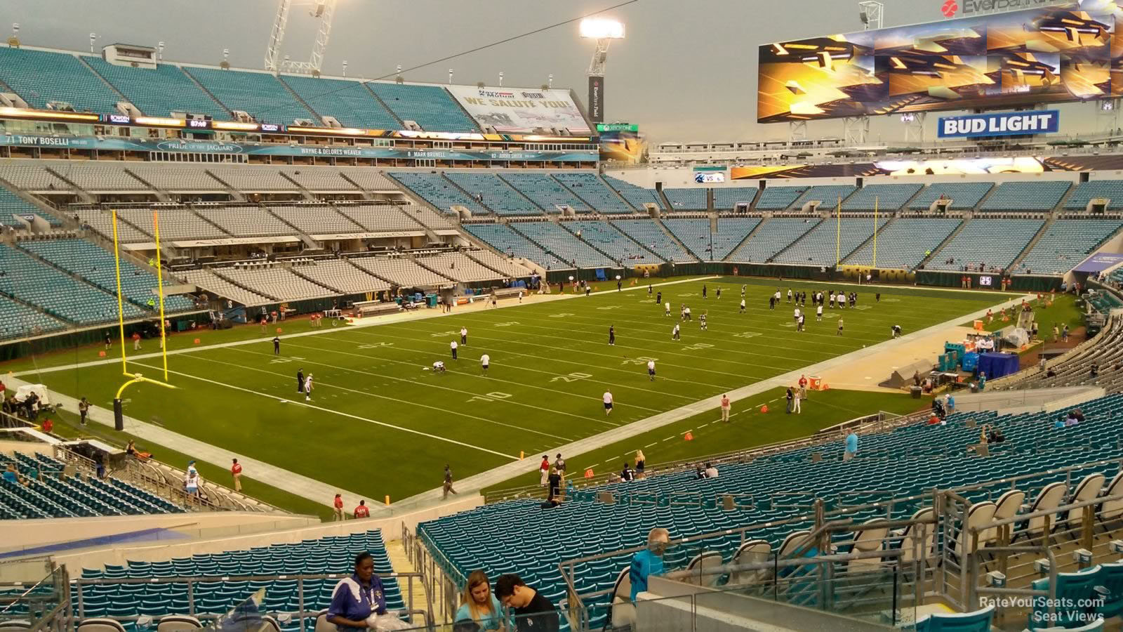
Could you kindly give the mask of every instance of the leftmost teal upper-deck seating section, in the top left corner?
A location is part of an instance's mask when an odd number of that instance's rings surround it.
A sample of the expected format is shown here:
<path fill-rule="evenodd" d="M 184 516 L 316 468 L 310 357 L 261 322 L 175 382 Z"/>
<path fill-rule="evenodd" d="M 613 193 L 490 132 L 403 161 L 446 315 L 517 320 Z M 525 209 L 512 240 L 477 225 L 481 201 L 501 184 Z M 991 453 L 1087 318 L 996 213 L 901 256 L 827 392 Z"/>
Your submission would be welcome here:
<path fill-rule="evenodd" d="M 69 53 L 0 47 L 0 81 L 38 109 L 64 101 L 79 111 L 116 112 L 125 100 Z"/>

